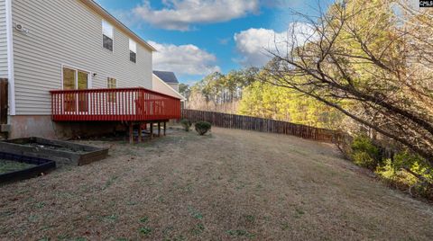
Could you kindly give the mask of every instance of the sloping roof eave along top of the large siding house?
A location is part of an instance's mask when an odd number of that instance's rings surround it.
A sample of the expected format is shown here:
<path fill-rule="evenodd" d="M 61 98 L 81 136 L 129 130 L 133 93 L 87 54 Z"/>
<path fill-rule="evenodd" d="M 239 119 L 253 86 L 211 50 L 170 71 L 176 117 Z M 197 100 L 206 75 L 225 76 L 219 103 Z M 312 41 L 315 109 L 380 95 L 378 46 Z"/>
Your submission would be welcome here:
<path fill-rule="evenodd" d="M 94 0 L 80 0 L 80 1 L 88 5 L 88 7 L 93 9 L 95 12 L 102 15 L 106 21 L 114 24 L 115 27 L 127 33 L 133 40 L 143 45 L 143 47 L 145 47 L 146 49 L 149 49 L 151 51 L 156 51 L 156 49 L 153 48 L 152 45 L 150 45 L 148 42 L 140 38 L 134 31 L 126 27 L 123 22 L 117 20 L 115 16 L 113 16 L 111 13 L 108 13 L 106 9 L 104 9 L 100 4 L 97 4 Z"/>

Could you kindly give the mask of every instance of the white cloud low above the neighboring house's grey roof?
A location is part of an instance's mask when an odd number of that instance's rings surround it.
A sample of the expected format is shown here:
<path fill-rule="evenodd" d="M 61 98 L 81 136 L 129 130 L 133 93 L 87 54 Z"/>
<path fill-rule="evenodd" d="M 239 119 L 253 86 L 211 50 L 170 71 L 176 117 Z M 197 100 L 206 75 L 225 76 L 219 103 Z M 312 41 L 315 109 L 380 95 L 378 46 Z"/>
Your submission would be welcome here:
<path fill-rule="evenodd" d="M 192 44 L 174 45 L 149 43 L 158 50 L 153 53 L 153 69 L 173 71 L 178 75 L 207 75 L 220 71 L 217 57 Z"/>

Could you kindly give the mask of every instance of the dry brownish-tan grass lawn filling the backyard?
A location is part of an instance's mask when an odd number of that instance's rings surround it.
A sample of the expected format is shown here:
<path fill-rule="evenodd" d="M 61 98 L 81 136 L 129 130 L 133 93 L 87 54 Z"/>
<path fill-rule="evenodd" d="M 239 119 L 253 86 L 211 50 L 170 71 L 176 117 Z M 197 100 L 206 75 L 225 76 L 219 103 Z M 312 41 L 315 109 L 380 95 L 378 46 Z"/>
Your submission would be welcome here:
<path fill-rule="evenodd" d="M 433 206 L 301 138 L 172 130 L 0 187 L 2 240 L 431 240 Z M 45 238 L 45 239 L 43 239 Z"/>

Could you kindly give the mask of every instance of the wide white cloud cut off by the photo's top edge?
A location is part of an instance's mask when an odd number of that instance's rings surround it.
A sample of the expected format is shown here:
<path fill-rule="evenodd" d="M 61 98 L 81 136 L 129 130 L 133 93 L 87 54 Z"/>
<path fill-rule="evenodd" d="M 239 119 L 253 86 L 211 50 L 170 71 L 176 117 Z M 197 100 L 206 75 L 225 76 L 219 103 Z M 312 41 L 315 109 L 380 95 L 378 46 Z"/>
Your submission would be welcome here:
<path fill-rule="evenodd" d="M 226 22 L 259 10 L 259 0 L 164 0 L 163 4 L 164 8 L 156 10 L 144 0 L 133 12 L 152 25 L 189 31 L 195 23 Z"/>

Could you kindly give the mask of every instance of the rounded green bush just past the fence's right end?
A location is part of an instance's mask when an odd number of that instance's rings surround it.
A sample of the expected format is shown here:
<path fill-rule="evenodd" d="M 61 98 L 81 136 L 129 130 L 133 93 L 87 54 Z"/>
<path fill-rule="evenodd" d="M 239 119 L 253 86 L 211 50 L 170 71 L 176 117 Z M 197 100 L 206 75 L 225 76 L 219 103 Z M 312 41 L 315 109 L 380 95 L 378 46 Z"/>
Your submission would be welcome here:
<path fill-rule="evenodd" d="M 380 149 L 373 145 L 370 138 L 358 136 L 352 142 L 352 158 L 356 165 L 375 170 L 382 163 Z"/>

